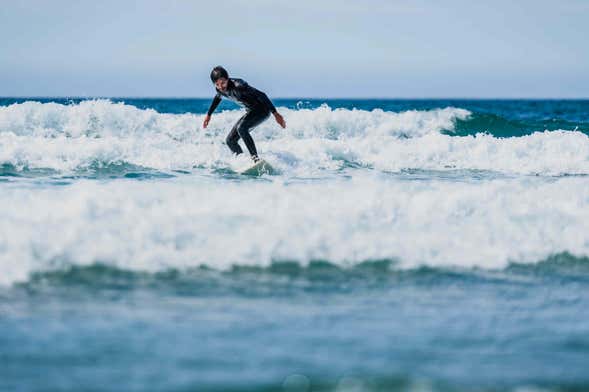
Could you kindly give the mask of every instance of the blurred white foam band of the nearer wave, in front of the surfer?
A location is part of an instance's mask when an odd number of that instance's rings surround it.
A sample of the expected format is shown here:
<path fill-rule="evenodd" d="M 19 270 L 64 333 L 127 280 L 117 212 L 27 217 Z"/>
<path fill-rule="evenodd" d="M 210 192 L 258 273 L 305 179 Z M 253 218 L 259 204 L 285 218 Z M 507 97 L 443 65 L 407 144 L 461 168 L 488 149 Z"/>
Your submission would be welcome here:
<path fill-rule="evenodd" d="M 5 184 L 0 282 L 64 264 L 141 271 L 383 258 L 501 268 L 563 251 L 589 255 L 589 182 L 351 180 Z"/>

